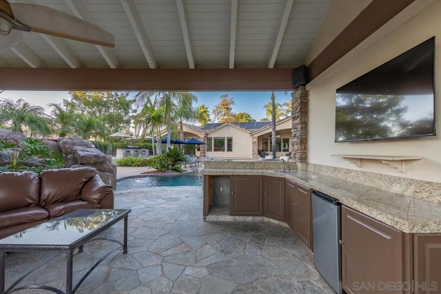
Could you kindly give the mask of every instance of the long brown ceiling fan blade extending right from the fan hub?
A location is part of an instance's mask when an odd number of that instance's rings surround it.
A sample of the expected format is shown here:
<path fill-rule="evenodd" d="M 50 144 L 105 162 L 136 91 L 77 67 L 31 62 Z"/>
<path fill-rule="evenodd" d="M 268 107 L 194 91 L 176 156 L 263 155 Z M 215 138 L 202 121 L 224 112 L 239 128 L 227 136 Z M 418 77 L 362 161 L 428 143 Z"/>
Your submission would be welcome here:
<path fill-rule="evenodd" d="M 26 3 L 11 3 L 14 17 L 32 32 L 114 47 L 114 35 L 71 14 Z"/>

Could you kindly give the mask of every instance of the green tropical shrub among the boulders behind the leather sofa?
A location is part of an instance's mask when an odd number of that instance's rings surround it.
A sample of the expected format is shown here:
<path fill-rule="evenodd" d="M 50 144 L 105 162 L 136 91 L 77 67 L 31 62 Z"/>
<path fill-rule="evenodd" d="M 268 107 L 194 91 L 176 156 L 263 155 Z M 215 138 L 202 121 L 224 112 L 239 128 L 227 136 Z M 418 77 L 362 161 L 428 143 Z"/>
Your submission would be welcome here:
<path fill-rule="evenodd" d="M 35 171 L 64 167 L 63 154 L 50 151 L 41 139 L 25 138 L 19 147 L 0 140 L 0 171 Z"/>

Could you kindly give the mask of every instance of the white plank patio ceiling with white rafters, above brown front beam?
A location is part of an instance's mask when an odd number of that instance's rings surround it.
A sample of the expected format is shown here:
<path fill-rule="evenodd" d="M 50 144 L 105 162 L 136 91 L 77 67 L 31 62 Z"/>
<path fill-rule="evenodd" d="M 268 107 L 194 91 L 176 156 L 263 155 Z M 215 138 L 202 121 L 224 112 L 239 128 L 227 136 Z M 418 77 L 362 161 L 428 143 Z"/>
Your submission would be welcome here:
<path fill-rule="evenodd" d="M 23 2 L 20 1 L 10 1 Z M 85 19 L 115 48 L 26 32 L 1 67 L 273 68 L 302 64 L 331 0 L 28 0 Z"/>

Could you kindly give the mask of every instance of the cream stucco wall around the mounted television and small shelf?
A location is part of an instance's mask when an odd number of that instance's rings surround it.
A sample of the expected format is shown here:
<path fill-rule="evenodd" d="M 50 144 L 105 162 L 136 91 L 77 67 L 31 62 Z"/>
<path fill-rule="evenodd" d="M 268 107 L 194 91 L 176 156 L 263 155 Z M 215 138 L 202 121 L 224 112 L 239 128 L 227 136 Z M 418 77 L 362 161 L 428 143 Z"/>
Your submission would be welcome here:
<path fill-rule="evenodd" d="M 441 132 L 440 15 L 441 1 L 435 1 L 416 17 L 405 21 L 390 33 L 380 36 L 373 45 L 368 47 L 362 45 L 363 50 L 353 50 L 356 54 L 349 52 L 343 59 L 344 62 L 340 61 L 338 65 L 334 65 L 334 68 L 328 71 L 325 77 L 320 78 L 319 82 L 307 85 L 307 90 L 309 90 L 308 162 L 441 182 L 441 134 L 435 137 L 406 140 L 334 143 L 336 89 L 431 36 L 435 36 L 436 129 L 438 133 Z M 407 173 L 402 174 L 377 160 L 363 160 L 362 167 L 358 168 L 342 158 L 332 156 L 333 154 L 422 156 L 423 159 L 408 162 Z"/>

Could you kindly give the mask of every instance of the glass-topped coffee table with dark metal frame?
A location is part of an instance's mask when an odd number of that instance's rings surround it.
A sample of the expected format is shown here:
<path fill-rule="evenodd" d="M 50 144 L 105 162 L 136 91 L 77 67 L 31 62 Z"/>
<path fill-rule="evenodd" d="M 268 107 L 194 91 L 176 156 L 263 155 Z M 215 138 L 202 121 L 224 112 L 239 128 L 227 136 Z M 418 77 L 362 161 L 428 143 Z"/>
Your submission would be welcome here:
<path fill-rule="evenodd" d="M 115 250 L 110 251 L 98 260 L 92 268 L 85 273 L 85 275 L 79 280 L 79 282 L 72 288 L 72 264 L 73 253 L 75 249 L 79 249 L 79 252 L 83 251 L 83 245 L 90 240 L 97 239 L 96 236 L 99 233 L 105 231 L 105 229 L 112 227 L 120 220 L 124 219 L 124 240 L 119 242 L 117 240 L 107 239 L 112 242 L 116 242 L 123 246 L 123 253 L 127 253 L 127 219 L 130 213 L 130 209 L 78 209 L 70 213 L 54 218 L 48 222 L 43 222 L 35 227 L 21 231 L 9 237 L 0 240 L 0 294 L 11 293 L 25 288 L 40 288 L 46 291 L 52 291 L 54 293 L 74 293 L 76 289 L 81 285 L 86 277 L 101 263 L 108 255 Z M 99 238 L 104 239 L 104 238 Z M 63 292 L 52 286 L 23 286 L 18 287 L 17 284 L 21 282 L 25 277 L 30 275 L 33 271 L 43 266 L 43 264 L 49 262 L 46 260 L 42 264 L 39 264 L 34 269 L 25 273 L 22 277 L 14 282 L 8 289 L 5 289 L 5 256 L 6 252 L 17 251 L 35 251 L 35 250 L 60 250 L 65 251 L 67 260 L 66 271 L 66 291 Z"/>

